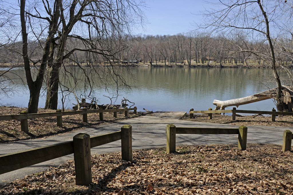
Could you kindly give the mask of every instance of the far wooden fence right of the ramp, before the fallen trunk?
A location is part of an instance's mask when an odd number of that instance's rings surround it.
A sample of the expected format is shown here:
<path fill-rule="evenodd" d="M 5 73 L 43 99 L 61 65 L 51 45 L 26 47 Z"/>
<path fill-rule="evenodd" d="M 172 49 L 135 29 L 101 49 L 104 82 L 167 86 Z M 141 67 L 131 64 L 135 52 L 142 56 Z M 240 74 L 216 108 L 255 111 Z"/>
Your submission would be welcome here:
<path fill-rule="evenodd" d="M 260 114 L 260 115 L 272 115 L 272 121 L 276 120 L 276 115 L 291 115 L 293 116 L 293 112 L 276 112 L 273 108 L 272 111 L 258 111 L 258 110 L 236 110 L 236 107 L 233 110 L 212 110 L 209 108 L 208 110 L 193 110 L 190 109 L 189 114 L 190 118 L 193 118 L 193 114 L 208 114 L 208 119 L 212 119 L 212 114 L 219 113 L 232 113 L 232 120 L 236 120 L 236 113 L 245 113 L 245 114 Z"/>

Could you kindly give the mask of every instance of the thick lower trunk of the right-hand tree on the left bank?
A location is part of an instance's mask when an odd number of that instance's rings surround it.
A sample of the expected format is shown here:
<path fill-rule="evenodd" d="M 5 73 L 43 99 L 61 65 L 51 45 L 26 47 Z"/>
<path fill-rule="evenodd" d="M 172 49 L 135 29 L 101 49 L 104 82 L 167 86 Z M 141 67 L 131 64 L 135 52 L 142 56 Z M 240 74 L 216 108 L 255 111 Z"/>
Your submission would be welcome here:
<path fill-rule="evenodd" d="M 58 106 L 59 68 L 50 68 L 48 78 L 45 109 L 56 110 Z"/>

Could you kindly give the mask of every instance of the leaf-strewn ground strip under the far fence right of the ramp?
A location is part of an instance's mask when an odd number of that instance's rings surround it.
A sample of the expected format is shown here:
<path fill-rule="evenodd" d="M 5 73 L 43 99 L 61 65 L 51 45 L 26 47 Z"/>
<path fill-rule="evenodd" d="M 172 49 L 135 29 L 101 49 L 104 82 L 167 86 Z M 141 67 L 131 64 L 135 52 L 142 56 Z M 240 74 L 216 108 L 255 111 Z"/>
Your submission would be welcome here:
<path fill-rule="evenodd" d="M 218 115 L 213 114 L 212 119 L 207 118 L 207 114 L 194 114 L 194 118 L 190 119 L 189 114 L 185 114 L 181 120 L 196 121 L 196 122 L 211 122 L 217 124 L 229 124 L 237 126 L 281 126 L 281 127 L 292 127 L 293 116 L 278 116 L 275 122 L 271 120 L 270 116 L 244 116 L 237 117 L 236 120 L 232 120 L 231 115 Z"/>

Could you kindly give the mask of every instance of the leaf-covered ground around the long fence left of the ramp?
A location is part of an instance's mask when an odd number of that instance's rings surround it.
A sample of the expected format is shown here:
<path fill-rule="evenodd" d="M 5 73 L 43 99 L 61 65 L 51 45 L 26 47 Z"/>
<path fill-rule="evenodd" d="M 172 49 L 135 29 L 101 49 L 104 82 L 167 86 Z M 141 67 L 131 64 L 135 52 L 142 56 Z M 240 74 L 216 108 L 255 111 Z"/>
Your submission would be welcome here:
<path fill-rule="evenodd" d="M 19 114 L 26 108 L 0 106 L 0 115 Z M 66 110 L 70 111 L 70 110 Z M 55 110 L 38 109 L 38 113 L 56 112 Z M 132 117 L 141 116 L 141 113 L 134 115 L 133 112 L 128 113 L 128 117 L 124 116 L 124 112 L 117 112 L 117 118 L 113 117 L 113 113 L 104 113 L 103 121 L 99 120 L 99 113 L 88 114 L 88 123 L 82 121 L 82 115 L 70 115 L 62 117 L 63 127 L 57 127 L 56 117 L 35 118 L 28 120 L 29 133 L 21 131 L 19 120 L 0 121 L 0 143 L 18 141 L 23 139 L 34 139 L 57 135 L 65 132 L 74 131 L 79 128 L 96 127 L 101 123 L 109 123 L 111 121 L 125 120 Z"/>

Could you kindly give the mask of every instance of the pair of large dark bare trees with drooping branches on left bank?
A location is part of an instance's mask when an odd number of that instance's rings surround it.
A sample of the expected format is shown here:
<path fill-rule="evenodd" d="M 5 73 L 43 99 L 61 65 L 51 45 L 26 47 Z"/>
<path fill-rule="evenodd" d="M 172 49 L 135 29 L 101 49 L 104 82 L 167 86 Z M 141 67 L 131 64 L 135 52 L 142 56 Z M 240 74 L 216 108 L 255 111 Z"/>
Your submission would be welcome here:
<path fill-rule="evenodd" d="M 33 6 L 32 6 L 33 4 Z M 28 113 L 38 109 L 40 90 L 47 71 L 47 98 L 45 108 L 56 109 L 59 89 L 59 73 L 64 60 L 72 60 L 76 52 L 96 55 L 115 66 L 115 48 L 103 45 L 111 38 L 119 38 L 130 33 L 132 25 L 143 20 L 142 1 L 132 0 L 42 0 L 40 2 L 20 0 L 20 19 L 22 49 L 26 81 L 30 90 Z M 17 19 L 17 17 L 20 17 Z M 70 47 L 68 41 L 79 41 Z M 34 44 L 33 44 L 33 43 Z M 38 48 L 38 55 L 33 55 Z M 104 60 L 105 61 L 105 60 Z M 92 61 L 88 64 L 92 64 Z M 36 79 L 32 77 L 31 67 L 37 67 Z M 121 77 L 112 71 L 116 79 Z M 123 80 L 123 79 L 122 79 Z"/>

